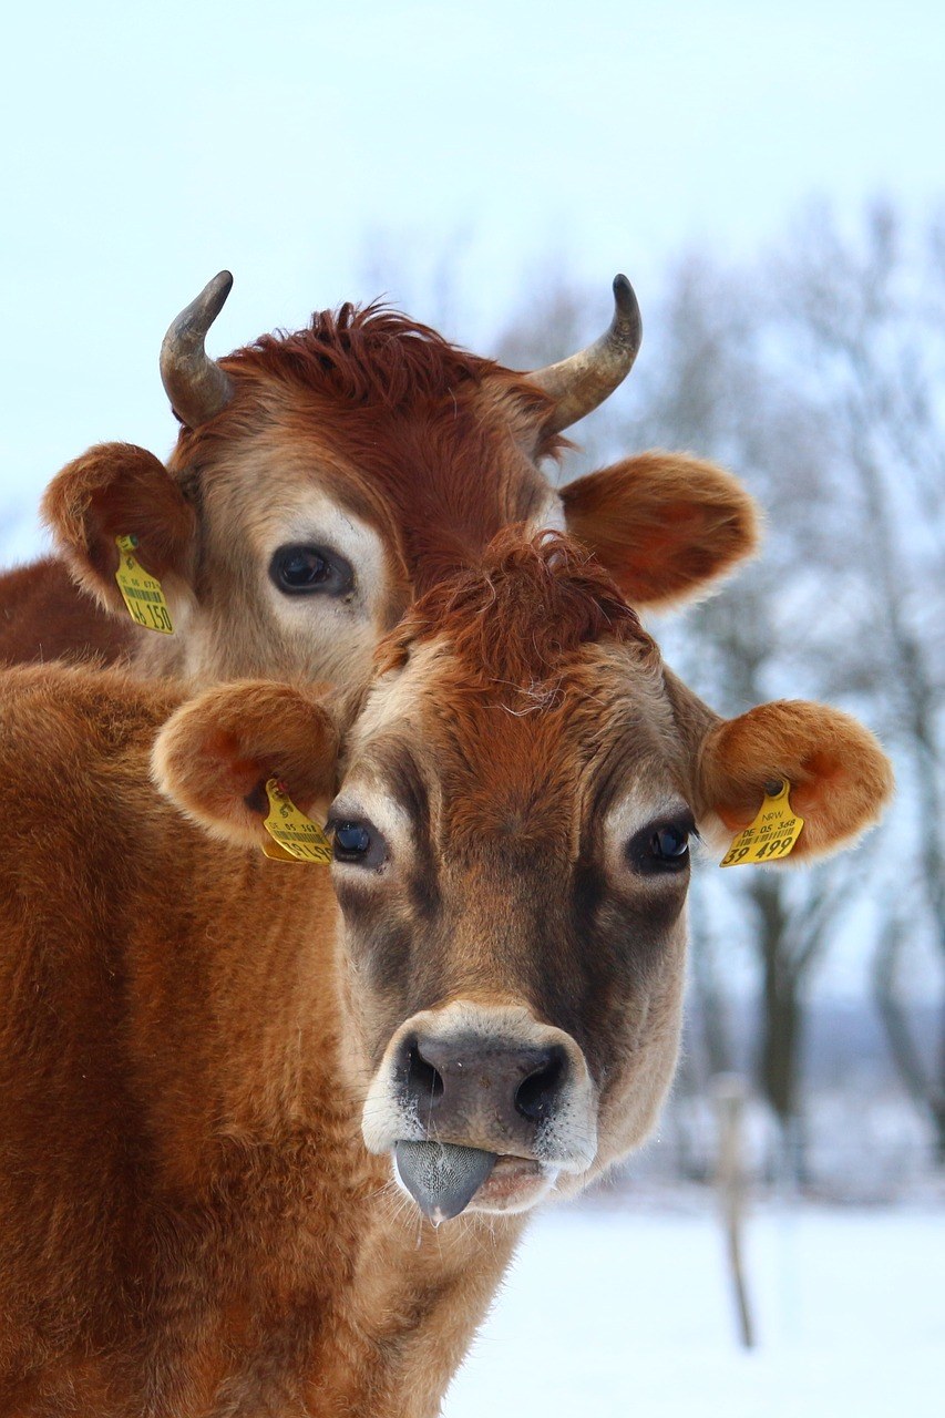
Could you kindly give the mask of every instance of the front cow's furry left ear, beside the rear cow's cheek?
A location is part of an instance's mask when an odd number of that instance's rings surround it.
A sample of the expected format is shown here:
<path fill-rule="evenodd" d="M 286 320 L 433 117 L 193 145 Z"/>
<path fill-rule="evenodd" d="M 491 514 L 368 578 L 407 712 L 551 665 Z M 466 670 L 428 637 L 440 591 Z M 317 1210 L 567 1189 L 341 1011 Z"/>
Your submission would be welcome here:
<path fill-rule="evenodd" d="M 278 778 L 308 815 L 335 795 L 338 727 L 315 695 L 270 681 L 219 685 L 183 705 L 152 754 L 155 783 L 213 837 L 265 842 L 265 784 Z"/>

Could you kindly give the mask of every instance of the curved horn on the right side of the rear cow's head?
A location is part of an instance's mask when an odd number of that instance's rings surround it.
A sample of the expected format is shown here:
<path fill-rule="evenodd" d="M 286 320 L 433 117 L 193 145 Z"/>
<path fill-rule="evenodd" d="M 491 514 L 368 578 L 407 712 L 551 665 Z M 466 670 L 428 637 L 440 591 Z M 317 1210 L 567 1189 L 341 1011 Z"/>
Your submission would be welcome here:
<path fill-rule="evenodd" d="M 633 286 L 626 275 L 613 281 L 614 312 L 610 329 L 586 350 L 562 359 L 558 364 L 532 370 L 528 379 L 558 401 L 546 424 L 559 434 L 603 404 L 630 370 L 643 339 L 643 320 Z"/>

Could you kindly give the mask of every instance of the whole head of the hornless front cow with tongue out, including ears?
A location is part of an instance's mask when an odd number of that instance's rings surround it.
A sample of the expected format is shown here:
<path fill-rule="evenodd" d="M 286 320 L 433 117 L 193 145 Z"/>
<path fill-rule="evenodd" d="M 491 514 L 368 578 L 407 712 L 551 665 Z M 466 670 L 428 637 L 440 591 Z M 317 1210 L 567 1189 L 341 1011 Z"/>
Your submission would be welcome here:
<path fill-rule="evenodd" d="M 573 543 L 508 532 L 414 605 L 356 702 L 217 688 L 156 764 L 241 845 L 262 841 L 270 774 L 326 815 L 343 1066 L 366 1146 L 434 1218 L 573 1191 L 646 1134 L 677 1052 L 694 832 L 726 845 L 786 778 L 809 859 L 891 787 L 837 710 L 719 720 Z"/>

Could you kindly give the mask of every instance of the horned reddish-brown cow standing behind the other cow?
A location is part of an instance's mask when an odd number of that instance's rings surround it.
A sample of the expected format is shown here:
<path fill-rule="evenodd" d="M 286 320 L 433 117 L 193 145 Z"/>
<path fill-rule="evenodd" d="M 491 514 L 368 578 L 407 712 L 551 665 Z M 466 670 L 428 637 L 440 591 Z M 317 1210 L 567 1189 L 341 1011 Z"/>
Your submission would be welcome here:
<path fill-rule="evenodd" d="M 607 333 L 528 374 L 350 305 L 214 362 L 204 340 L 230 285 L 216 277 L 165 339 L 182 421 L 167 465 L 102 444 L 51 484 L 58 557 L 0 579 L 0 662 L 92 649 L 193 685 L 355 682 L 411 597 L 511 522 L 566 526 L 639 607 L 680 603 L 755 550 L 751 498 L 701 459 L 647 452 L 560 492 L 541 471 L 633 364 L 640 312 L 623 277 Z M 173 634 L 128 614 L 126 536 Z"/>

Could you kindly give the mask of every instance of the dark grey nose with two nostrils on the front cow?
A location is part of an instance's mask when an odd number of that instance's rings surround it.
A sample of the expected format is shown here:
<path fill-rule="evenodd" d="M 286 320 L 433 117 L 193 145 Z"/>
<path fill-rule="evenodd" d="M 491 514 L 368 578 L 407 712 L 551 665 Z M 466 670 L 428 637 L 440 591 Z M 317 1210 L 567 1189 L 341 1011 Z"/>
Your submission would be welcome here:
<path fill-rule="evenodd" d="M 568 1066 L 560 1044 L 414 1035 L 403 1042 L 400 1076 L 419 1120 L 444 1141 L 528 1154 Z"/>

